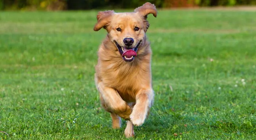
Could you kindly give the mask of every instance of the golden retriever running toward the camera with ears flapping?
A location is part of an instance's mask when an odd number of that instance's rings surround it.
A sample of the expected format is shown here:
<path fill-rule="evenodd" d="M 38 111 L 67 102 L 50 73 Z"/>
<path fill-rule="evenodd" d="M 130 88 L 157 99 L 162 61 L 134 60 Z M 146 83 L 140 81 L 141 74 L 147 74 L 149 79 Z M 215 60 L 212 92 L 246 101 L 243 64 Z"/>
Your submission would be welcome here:
<path fill-rule="evenodd" d="M 112 128 L 121 127 L 121 118 L 127 120 L 126 137 L 134 136 L 134 125 L 144 123 L 154 100 L 148 14 L 157 15 L 149 2 L 130 13 L 99 12 L 94 26 L 94 31 L 107 31 L 95 66 L 101 105 L 110 112 Z"/>

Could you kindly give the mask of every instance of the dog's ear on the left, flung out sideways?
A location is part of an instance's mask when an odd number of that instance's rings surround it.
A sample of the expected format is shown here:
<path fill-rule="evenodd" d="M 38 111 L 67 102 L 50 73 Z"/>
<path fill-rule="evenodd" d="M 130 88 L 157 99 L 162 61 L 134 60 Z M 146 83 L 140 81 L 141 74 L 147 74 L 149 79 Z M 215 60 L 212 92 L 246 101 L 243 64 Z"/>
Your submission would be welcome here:
<path fill-rule="evenodd" d="M 114 14 L 113 10 L 104 11 L 104 12 L 98 12 L 97 15 L 97 23 L 94 26 L 94 31 L 99 31 L 102 27 L 106 29 L 106 26 L 111 21 L 111 17 Z"/>

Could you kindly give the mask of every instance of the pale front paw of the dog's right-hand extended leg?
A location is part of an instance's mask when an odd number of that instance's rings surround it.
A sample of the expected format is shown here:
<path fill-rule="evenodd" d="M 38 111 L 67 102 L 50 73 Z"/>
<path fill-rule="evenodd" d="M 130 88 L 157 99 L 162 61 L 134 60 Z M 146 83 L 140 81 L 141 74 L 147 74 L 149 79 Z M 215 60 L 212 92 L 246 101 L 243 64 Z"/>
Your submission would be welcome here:
<path fill-rule="evenodd" d="M 145 112 L 146 111 L 139 112 L 139 111 L 133 110 L 132 114 L 130 115 L 130 120 L 132 121 L 132 124 L 135 126 L 142 125 L 147 117 L 147 113 Z"/>

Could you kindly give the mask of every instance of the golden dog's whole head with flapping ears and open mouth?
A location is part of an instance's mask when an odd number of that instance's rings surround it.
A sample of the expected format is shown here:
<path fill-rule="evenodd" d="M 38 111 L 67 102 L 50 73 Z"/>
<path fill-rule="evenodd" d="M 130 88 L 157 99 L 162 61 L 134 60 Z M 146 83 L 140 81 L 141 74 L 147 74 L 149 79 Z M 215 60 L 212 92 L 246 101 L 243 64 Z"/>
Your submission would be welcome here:
<path fill-rule="evenodd" d="M 110 40 L 117 47 L 125 61 L 132 61 L 137 56 L 138 48 L 144 41 L 149 27 L 148 14 L 157 15 L 156 6 L 149 2 L 136 8 L 131 13 L 99 12 L 94 31 L 102 27 L 108 31 Z"/>

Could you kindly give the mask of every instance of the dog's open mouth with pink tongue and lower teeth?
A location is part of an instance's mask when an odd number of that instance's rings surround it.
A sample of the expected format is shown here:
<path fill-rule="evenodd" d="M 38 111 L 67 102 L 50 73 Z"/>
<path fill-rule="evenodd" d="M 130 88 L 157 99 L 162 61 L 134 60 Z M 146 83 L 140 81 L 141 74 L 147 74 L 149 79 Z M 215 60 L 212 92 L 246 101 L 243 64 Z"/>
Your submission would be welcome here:
<path fill-rule="evenodd" d="M 116 41 L 114 42 L 116 43 L 116 47 L 119 53 L 121 54 L 123 60 L 128 62 L 131 62 L 132 60 L 134 60 L 135 56 L 137 56 L 138 47 L 140 46 L 141 43 L 140 41 L 135 48 L 127 48 L 120 46 Z"/>

